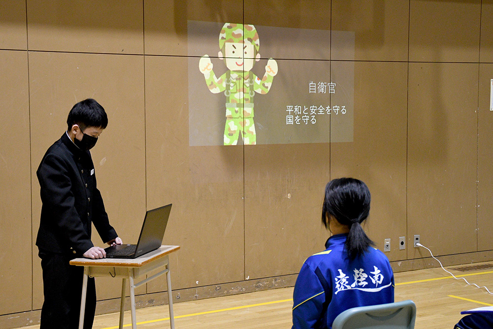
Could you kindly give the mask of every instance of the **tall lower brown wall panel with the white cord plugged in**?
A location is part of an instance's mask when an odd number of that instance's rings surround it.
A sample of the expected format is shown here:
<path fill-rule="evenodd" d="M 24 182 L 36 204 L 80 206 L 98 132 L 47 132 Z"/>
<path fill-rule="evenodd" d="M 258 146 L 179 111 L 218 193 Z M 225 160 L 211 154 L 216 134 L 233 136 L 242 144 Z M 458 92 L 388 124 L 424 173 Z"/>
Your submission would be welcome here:
<path fill-rule="evenodd" d="M 478 64 L 409 64 L 408 233 L 436 255 L 477 250 L 477 95 Z"/>

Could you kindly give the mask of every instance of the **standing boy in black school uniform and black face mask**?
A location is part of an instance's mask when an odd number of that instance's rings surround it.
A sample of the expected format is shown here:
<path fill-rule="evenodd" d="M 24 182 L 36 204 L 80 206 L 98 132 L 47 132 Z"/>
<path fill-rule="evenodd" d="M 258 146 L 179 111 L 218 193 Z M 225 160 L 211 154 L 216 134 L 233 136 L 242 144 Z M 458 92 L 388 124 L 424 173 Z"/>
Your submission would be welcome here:
<path fill-rule="evenodd" d="M 42 201 L 36 239 L 43 271 L 41 329 L 78 327 L 83 268 L 69 261 L 106 256 L 91 242 L 91 223 L 108 245 L 122 243 L 109 224 L 89 152 L 108 124 L 105 109 L 93 99 L 81 101 L 70 110 L 67 124 L 36 172 Z M 95 309 L 96 287 L 90 278 L 84 329 L 92 328 Z"/>

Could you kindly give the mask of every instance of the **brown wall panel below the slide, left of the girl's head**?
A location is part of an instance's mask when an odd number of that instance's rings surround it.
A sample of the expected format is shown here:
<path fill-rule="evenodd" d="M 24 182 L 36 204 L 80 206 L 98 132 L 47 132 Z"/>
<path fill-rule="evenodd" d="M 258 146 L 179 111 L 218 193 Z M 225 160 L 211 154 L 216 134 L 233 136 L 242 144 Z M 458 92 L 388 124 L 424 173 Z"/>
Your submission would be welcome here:
<path fill-rule="evenodd" d="M 330 144 L 245 146 L 245 278 L 297 273 L 323 251 Z"/>

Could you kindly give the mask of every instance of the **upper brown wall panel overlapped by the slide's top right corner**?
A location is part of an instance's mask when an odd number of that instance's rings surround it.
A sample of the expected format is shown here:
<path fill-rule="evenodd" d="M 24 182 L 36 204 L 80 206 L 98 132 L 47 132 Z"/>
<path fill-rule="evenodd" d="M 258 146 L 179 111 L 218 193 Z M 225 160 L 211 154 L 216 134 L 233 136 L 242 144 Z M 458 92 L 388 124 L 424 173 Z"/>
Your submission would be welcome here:
<path fill-rule="evenodd" d="M 337 48 L 333 60 L 407 61 L 409 1 L 332 0 L 332 30 L 355 33 L 354 58 Z M 333 38 L 332 42 L 342 42 Z"/>

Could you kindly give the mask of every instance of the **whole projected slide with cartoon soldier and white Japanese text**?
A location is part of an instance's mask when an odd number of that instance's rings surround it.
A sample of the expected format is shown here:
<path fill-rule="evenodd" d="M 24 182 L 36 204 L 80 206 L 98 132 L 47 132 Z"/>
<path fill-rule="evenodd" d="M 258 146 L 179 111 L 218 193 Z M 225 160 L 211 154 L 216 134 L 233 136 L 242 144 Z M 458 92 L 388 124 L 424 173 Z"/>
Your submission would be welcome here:
<path fill-rule="evenodd" d="M 354 64 L 326 60 L 330 37 L 189 21 L 190 146 L 352 142 Z M 332 37 L 352 59 L 354 34 Z"/>

